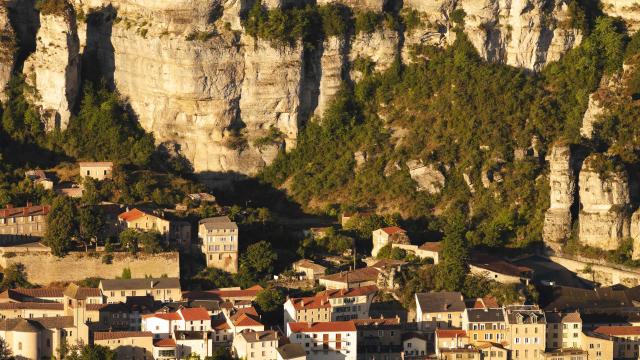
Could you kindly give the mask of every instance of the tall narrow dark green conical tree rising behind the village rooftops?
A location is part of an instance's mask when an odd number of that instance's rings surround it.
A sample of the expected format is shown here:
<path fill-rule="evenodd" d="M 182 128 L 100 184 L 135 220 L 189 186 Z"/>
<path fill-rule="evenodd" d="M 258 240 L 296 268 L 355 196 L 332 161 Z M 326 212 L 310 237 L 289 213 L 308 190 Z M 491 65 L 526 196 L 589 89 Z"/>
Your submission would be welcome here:
<path fill-rule="evenodd" d="M 446 214 L 447 223 L 442 239 L 442 260 L 438 264 L 436 283 L 438 288 L 461 290 L 468 272 L 468 249 L 465 239 L 466 221 L 460 210 Z"/>

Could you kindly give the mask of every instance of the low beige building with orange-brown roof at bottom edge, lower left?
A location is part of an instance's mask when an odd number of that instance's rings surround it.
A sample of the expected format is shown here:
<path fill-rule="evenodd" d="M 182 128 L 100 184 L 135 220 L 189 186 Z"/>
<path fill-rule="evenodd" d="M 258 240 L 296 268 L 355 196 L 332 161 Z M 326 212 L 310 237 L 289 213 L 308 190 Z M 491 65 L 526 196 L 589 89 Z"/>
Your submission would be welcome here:
<path fill-rule="evenodd" d="M 153 359 L 153 334 L 147 331 L 95 332 L 93 343 L 113 350 L 118 360 Z"/>

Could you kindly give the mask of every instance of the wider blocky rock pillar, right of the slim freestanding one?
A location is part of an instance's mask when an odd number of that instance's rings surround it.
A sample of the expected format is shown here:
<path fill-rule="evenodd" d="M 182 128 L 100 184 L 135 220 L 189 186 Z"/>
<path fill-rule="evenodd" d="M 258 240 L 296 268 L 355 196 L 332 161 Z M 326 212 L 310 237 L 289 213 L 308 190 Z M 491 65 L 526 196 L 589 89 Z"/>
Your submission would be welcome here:
<path fill-rule="evenodd" d="M 629 180 L 619 171 L 602 178 L 588 157 L 580 171 L 580 226 L 582 244 L 614 250 L 629 237 Z"/>

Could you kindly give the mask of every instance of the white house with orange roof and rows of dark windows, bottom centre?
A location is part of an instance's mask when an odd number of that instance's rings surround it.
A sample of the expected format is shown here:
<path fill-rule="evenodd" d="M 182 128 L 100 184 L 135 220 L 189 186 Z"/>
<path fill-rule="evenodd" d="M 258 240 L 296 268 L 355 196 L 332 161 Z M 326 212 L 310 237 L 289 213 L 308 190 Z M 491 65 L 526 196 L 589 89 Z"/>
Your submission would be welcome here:
<path fill-rule="evenodd" d="M 353 321 L 289 322 L 287 337 L 307 352 L 307 359 L 357 360 L 358 334 Z"/>

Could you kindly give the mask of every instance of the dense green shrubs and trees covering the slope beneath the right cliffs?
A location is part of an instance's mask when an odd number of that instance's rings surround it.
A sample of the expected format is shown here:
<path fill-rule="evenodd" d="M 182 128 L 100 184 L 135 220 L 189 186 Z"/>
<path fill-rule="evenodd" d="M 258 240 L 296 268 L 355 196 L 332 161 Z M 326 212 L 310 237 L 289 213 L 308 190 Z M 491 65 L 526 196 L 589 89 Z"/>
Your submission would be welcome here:
<path fill-rule="evenodd" d="M 545 151 L 555 141 L 582 142 L 588 96 L 621 68 L 629 40 L 617 20 L 599 17 L 579 47 L 539 74 L 482 61 L 462 33 L 446 49 L 415 49 L 416 63 L 345 85 L 322 122 L 308 123 L 298 148 L 262 178 L 316 211 L 346 203 L 438 223 L 459 208 L 469 214 L 470 245 L 528 246 L 540 241 L 548 207 Z M 599 150 L 620 141 L 635 149 L 633 131 L 616 132 L 616 124 L 601 131 Z M 356 152 L 366 154 L 361 166 Z M 442 192 L 417 192 L 408 160 L 443 171 Z"/>

